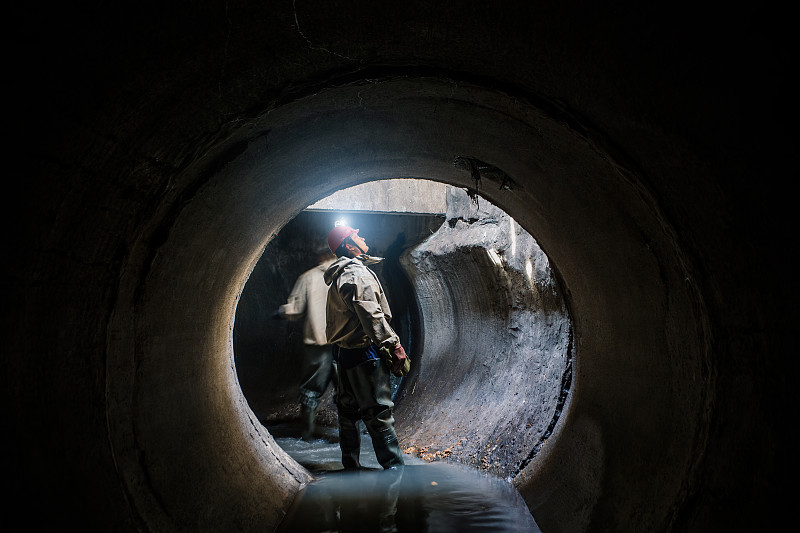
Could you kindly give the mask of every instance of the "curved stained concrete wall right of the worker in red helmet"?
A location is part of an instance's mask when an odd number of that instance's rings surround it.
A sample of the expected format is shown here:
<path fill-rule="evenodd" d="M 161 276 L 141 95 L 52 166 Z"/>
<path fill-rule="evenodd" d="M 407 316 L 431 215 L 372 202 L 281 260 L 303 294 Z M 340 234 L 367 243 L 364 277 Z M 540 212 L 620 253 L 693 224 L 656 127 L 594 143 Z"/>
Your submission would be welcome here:
<path fill-rule="evenodd" d="M 425 460 L 513 481 L 568 401 L 572 323 L 528 232 L 462 189 L 447 200 L 447 222 L 403 256 L 425 339 L 398 402 L 398 436 Z"/>

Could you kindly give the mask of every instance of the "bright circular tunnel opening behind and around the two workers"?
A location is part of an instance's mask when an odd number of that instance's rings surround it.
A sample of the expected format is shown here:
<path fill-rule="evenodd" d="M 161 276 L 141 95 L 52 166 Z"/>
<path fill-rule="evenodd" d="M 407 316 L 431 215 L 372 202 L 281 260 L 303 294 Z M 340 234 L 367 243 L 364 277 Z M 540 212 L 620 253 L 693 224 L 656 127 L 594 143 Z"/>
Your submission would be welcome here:
<path fill-rule="evenodd" d="M 316 413 L 317 439 L 300 439 L 303 343 L 319 339 L 306 330 L 305 317 L 286 320 L 276 310 L 304 272 L 321 277 L 320 247 L 345 220 L 368 238 L 371 254 L 384 258 L 372 269 L 387 292 L 392 326 L 412 354 L 412 373 L 392 377 L 407 456 L 512 479 L 563 411 L 572 326 L 533 237 L 466 189 L 419 179 L 368 182 L 316 202 L 278 232 L 236 309 L 234 357 L 250 408 L 302 465 L 341 468 L 325 456 L 336 452 L 329 446 L 337 438 L 334 383 Z M 307 311 L 310 304 L 303 305 Z"/>

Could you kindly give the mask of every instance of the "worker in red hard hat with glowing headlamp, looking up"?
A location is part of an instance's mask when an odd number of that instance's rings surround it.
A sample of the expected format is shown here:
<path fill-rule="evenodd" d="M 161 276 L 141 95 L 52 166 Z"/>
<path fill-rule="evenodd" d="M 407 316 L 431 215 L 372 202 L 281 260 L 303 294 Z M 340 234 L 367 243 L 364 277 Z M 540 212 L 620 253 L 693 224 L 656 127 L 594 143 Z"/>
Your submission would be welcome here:
<path fill-rule="evenodd" d="M 404 376 L 410 360 L 389 325 L 389 302 L 378 277 L 367 265 L 381 258 L 367 255 L 369 246 L 357 229 L 337 226 L 328 234 L 336 261 L 325 271 L 328 290 L 327 341 L 337 367 L 336 408 L 339 446 L 345 470 L 360 470 L 361 434 L 358 421 L 372 439 L 384 469 L 404 464 L 394 428 L 389 372 Z"/>

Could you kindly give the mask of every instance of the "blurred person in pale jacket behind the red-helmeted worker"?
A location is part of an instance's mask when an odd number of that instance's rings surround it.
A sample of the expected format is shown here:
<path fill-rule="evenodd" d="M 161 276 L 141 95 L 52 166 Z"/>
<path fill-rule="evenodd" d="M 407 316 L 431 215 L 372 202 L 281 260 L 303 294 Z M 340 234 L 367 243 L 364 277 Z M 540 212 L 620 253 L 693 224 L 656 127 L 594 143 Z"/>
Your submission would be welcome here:
<path fill-rule="evenodd" d="M 303 324 L 303 370 L 300 383 L 300 419 L 303 426 L 301 438 L 313 440 L 320 399 L 334 382 L 333 354 L 325 333 L 325 305 L 328 286 L 323 274 L 333 263 L 328 249 L 319 250 L 317 265 L 303 272 L 292 287 L 289 298 L 278 309 L 281 318 Z"/>

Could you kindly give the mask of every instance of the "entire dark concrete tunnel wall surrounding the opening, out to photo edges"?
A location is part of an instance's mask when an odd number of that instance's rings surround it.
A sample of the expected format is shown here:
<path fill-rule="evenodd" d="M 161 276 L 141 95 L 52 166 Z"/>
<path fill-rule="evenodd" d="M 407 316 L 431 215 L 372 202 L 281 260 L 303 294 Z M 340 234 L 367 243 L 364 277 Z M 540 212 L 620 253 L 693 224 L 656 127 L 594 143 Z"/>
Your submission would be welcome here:
<path fill-rule="evenodd" d="M 470 156 L 512 178 L 481 193 L 541 244 L 574 320 L 569 410 L 515 479 L 543 530 L 779 523 L 797 315 L 775 192 L 794 142 L 793 108 L 773 103 L 790 101 L 781 17 L 623 6 L 21 13 L 9 511 L 53 529 L 274 527 L 310 477 L 236 383 L 249 271 L 334 190 L 476 187 L 453 164 Z"/>

